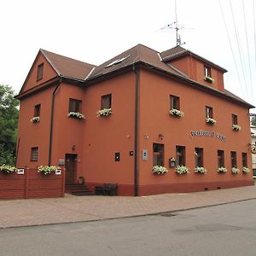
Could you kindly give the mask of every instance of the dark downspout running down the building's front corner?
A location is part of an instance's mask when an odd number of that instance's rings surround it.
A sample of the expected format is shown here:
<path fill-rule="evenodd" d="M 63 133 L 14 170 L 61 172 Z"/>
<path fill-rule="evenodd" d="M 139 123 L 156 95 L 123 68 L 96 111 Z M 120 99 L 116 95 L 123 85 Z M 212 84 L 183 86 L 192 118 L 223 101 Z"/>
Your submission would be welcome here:
<path fill-rule="evenodd" d="M 133 65 L 132 70 L 135 73 L 135 114 L 134 114 L 134 196 L 138 195 L 138 99 L 139 99 L 139 70 Z"/>

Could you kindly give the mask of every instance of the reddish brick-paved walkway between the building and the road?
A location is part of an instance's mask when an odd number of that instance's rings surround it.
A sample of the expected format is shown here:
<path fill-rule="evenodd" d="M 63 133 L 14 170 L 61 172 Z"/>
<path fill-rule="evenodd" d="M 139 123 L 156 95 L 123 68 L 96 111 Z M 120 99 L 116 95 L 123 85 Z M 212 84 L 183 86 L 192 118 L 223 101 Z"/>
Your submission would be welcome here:
<path fill-rule="evenodd" d="M 0 228 L 95 221 L 256 199 L 256 186 L 189 194 L 73 196 L 0 201 Z"/>

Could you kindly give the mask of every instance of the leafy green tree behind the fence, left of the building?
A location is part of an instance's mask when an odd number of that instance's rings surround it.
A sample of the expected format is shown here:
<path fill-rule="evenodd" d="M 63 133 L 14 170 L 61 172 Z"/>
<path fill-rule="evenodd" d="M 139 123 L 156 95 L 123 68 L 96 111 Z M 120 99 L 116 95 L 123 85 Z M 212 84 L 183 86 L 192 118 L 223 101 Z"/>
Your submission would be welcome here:
<path fill-rule="evenodd" d="M 15 165 L 19 101 L 9 85 L 0 84 L 0 165 Z"/>

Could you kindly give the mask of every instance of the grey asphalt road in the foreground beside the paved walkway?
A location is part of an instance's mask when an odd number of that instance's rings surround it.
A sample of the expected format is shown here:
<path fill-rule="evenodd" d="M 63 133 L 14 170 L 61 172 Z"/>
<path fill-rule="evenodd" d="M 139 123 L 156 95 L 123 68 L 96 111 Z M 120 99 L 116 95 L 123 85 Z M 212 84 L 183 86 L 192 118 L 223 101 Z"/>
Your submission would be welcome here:
<path fill-rule="evenodd" d="M 0 255 L 255 256 L 256 200 L 135 218 L 2 229 Z"/>

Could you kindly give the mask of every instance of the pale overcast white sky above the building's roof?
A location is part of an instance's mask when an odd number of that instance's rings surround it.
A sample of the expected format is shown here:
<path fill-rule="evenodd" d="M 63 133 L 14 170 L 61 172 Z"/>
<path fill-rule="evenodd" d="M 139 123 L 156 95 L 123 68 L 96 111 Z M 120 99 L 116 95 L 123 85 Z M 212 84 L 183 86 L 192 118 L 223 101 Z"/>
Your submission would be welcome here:
<path fill-rule="evenodd" d="M 254 1 L 177 0 L 176 6 L 182 46 L 227 69 L 225 88 L 255 106 Z M 40 48 L 94 65 L 137 44 L 170 49 L 175 30 L 165 27 L 175 20 L 175 0 L 1 1 L 0 84 L 19 93 Z"/>

